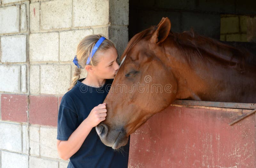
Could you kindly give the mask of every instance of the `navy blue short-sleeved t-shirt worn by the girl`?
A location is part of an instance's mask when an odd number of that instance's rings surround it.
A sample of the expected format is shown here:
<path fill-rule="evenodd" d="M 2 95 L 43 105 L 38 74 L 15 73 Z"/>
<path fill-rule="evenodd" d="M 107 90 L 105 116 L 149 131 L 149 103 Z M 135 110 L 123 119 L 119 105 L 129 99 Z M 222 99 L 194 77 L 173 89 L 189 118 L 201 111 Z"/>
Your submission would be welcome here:
<path fill-rule="evenodd" d="M 103 86 L 91 87 L 82 83 L 84 79 L 79 79 L 61 99 L 57 126 L 58 140 L 68 140 L 92 108 L 103 103 L 113 82 L 113 79 L 106 79 Z M 101 142 L 93 127 L 81 148 L 69 158 L 68 168 L 127 168 L 129 146 L 130 136 L 128 144 L 123 147 L 124 150 L 115 151 Z"/>

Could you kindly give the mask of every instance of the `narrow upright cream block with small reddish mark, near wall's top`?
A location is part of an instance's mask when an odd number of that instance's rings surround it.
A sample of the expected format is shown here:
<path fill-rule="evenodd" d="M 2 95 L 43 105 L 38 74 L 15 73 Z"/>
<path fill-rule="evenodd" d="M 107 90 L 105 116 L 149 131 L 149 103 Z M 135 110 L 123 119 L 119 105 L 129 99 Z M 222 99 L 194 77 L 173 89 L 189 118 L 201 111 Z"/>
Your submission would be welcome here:
<path fill-rule="evenodd" d="M 31 32 L 40 30 L 39 3 L 29 4 L 29 29 Z"/>

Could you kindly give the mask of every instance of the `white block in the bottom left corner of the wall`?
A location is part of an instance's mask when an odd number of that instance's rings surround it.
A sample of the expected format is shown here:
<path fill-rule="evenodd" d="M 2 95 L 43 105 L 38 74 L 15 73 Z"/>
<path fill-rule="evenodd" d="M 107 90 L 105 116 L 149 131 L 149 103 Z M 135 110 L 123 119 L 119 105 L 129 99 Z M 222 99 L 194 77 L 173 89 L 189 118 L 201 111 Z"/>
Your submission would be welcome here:
<path fill-rule="evenodd" d="M 28 168 L 28 156 L 2 151 L 2 168 Z"/>

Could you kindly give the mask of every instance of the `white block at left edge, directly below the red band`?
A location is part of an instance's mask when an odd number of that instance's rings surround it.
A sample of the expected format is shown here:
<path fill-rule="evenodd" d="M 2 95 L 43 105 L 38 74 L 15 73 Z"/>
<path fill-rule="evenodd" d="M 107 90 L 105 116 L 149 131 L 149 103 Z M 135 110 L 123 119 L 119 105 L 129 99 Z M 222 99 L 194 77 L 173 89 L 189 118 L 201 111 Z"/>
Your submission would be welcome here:
<path fill-rule="evenodd" d="M 13 152 L 22 152 L 21 125 L 0 123 L 0 149 L 5 149 Z M 3 153 L 2 153 L 3 161 Z M 3 162 L 2 162 L 2 165 Z"/>

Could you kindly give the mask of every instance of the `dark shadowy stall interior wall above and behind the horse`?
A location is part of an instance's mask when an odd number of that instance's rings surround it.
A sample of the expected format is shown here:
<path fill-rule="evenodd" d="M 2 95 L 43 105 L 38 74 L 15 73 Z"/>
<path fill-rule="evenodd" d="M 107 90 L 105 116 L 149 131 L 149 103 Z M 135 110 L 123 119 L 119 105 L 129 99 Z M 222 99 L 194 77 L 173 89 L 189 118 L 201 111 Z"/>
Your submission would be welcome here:
<path fill-rule="evenodd" d="M 221 15 L 256 15 L 255 5 L 254 0 L 130 0 L 129 39 L 143 29 L 157 25 L 162 17 L 168 17 L 174 32 L 193 28 L 201 35 L 219 40 L 220 34 L 223 34 L 221 23 L 225 22 L 221 20 Z M 244 34 L 242 31 L 241 34 Z"/>

